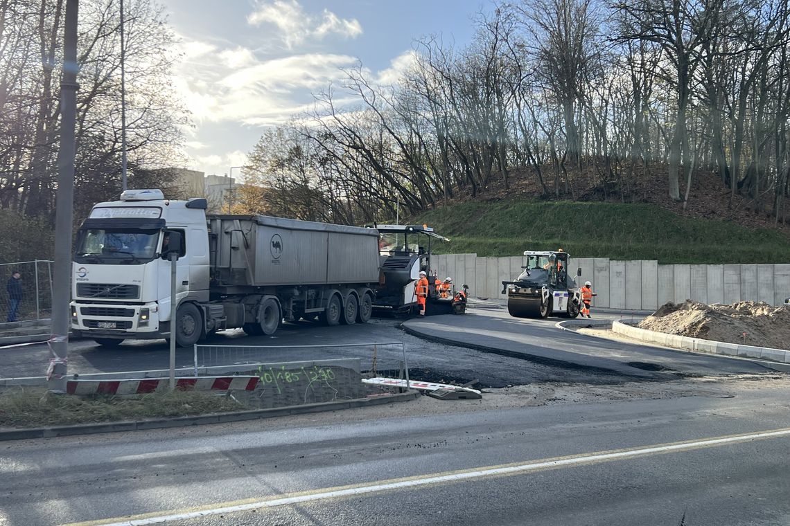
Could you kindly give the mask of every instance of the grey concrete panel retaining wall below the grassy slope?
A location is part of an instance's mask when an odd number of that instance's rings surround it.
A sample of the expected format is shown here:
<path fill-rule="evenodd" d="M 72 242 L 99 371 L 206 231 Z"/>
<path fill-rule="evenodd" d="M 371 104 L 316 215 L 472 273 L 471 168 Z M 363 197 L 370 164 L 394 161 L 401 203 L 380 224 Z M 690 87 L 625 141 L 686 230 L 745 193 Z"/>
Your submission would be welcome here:
<path fill-rule="evenodd" d="M 476 254 L 434 256 L 440 279 L 466 283 L 472 297 L 502 300 L 502 282 L 521 274 L 523 256 L 482 258 Z M 790 263 L 770 265 L 659 265 L 655 260 L 610 261 L 573 258 L 569 270 L 581 268 L 597 296 L 593 306 L 652 311 L 672 301 L 730 304 L 760 300 L 781 305 L 790 297 Z"/>

